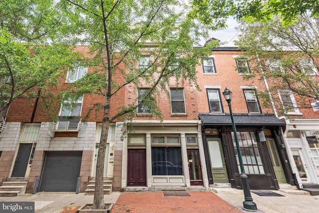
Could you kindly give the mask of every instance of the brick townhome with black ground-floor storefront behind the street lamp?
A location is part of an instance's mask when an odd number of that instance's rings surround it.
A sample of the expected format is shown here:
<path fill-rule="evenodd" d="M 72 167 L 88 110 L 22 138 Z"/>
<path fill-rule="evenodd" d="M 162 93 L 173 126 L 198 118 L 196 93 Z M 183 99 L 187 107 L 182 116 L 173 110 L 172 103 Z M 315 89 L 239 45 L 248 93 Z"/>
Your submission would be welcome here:
<path fill-rule="evenodd" d="M 222 95 L 227 87 L 232 91 L 234 123 L 250 189 L 295 185 L 282 137 L 285 122 L 275 117 L 273 109 L 261 108 L 256 91 L 265 90 L 265 82 L 243 78 L 251 73 L 241 53 L 236 47 L 218 47 L 212 49 L 203 67 L 198 67 L 201 91 L 196 93 L 209 184 L 241 188 L 230 111 Z"/>

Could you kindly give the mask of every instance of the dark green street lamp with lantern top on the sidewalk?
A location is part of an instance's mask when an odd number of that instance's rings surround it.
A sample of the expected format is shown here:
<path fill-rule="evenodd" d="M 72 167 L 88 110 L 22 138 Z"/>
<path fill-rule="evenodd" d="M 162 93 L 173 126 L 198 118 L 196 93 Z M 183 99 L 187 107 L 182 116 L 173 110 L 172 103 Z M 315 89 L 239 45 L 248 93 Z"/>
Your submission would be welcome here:
<path fill-rule="evenodd" d="M 245 201 L 243 202 L 243 209 L 244 210 L 249 210 L 252 212 L 257 212 L 257 206 L 256 204 L 253 202 L 253 198 L 251 197 L 250 194 L 250 190 L 249 190 L 249 185 L 248 185 L 248 177 L 245 173 L 244 170 L 244 164 L 243 164 L 243 159 L 241 156 L 241 152 L 240 152 L 240 147 L 239 147 L 239 143 L 238 143 L 238 138 L 237 138 L 237 131 L 236 131 L 236 126 L 234 123 L 234 118 L 233 118 L 233 112 L 231 110 L 231 97 L 232 97 L 232 92 L 225 88 L 224 92 L 223 92 L 223 96 L 226 99 L 228 106 L 229 106 L 229 112 L 230 112 L 230 118 L 231 118 L 231 124 L 233 126 L 233 132 L 234 132 L 234 137 L 235 137 L 235 143 L 236 143 L 236 149 L 237 149 L 237 154 L 238 154 L 238 160 L 239 160 L 239 165 L 240 165 L 240 178 L 241 178 L 241 184 L 244 190 L 244 196 L 245 196 Z"/>

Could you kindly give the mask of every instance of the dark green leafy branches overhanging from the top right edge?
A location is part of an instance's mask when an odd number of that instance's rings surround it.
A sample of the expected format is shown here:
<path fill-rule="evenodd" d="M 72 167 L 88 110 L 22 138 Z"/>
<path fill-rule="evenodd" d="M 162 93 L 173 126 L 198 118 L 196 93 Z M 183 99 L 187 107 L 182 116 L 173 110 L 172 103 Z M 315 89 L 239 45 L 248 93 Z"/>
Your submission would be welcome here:
<path fill-rule="evenodd" d="M 294 22 L 298 15 L 310 11 L 312 17 L 319 16 L 318 0 L 190 0 L 190 17 L 197 17 L 212 29 L 224 27 L 226 19 L 270 21 L 280 15 L 284 25 Z"/>

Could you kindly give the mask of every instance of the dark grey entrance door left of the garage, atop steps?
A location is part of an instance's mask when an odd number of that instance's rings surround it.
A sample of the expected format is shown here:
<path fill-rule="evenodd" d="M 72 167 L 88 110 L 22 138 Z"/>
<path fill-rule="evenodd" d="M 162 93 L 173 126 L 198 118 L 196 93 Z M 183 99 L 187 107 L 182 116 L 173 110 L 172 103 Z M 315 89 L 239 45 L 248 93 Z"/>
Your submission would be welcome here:
<path fill-rule="evenodd" d="M 15 157 L 12 178 L 24 178 L 29 176 L 30 166 L 35 150 L 35 143 L 19 144 L 18 153 Z"/>

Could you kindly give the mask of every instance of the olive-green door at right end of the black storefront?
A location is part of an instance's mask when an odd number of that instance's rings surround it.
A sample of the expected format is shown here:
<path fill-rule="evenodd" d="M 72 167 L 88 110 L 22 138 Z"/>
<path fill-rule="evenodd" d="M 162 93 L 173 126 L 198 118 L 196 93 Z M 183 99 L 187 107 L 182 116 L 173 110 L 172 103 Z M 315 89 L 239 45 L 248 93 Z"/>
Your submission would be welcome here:
<path fill-rule="evenodd" d="M 273 169 L 275 171 L 278 183 L 287 183 L 285 173 L 276 149 L 275 140 L 272 138 L 266 139 L 266 144 L 268 147 L 269 154 L 271 156 L 271 162 L 273 164 Z"/>

